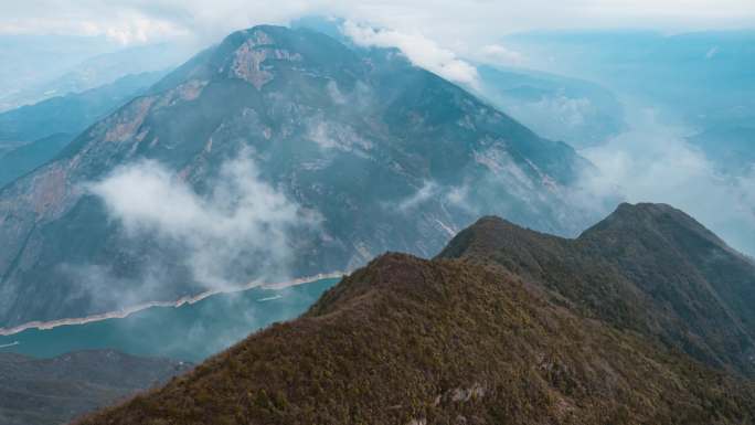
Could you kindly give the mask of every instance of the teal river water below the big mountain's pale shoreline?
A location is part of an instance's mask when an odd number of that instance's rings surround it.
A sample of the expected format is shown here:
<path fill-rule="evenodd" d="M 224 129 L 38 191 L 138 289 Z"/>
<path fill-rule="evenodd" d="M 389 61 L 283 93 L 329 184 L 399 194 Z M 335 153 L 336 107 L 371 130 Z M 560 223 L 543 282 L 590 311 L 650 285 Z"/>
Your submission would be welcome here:
<path fill-rule="evenodd" d="M 213 294 L 191 302 L 148 307 L 123 318 L 38 325 L 0 336 L 0 353 L 53 358 L 71 351 L 113 349 L 199 362 L 256 329 L 299 316 L 338 280 Z"/>

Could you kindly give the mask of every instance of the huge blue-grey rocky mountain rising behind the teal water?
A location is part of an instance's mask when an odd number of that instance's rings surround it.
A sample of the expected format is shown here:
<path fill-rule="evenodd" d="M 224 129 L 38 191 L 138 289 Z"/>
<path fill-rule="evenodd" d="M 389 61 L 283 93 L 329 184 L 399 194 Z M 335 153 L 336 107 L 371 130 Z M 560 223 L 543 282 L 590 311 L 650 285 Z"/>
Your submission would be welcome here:
<path fill-rule="evenodd" d="M 0 190 L 0 325 L 428 256 L 480 214 L 573 234 L 585 167 L 395 50 L 255 26 Z"/>

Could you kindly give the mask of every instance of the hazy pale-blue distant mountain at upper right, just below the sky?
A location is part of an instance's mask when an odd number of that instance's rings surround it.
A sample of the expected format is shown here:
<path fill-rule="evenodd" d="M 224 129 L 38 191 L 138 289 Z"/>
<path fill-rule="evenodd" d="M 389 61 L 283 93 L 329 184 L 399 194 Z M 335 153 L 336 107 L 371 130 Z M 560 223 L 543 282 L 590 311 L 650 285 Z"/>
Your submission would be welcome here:
<path fill-rule="evenodd" d="M 752 123 L 755 31 L 536 31 L 506 38 L 532 66 L 579 76 L 682 116 L 694 127 Z"/>

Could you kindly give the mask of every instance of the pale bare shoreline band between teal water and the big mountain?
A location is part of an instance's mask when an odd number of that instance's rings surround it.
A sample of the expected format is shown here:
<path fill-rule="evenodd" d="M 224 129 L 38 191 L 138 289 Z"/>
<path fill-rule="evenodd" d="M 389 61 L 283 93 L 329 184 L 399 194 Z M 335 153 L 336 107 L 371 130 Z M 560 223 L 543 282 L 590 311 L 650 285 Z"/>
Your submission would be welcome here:
<path fill-rule="evenodd" d="M 213 295 L 219 295 L 219 294 L 241 293 L 243 290 L 248 290 L 248 289 L 253 289 L 253 288 L 283 289 L 283 288 L 287 288 L 289 286 L 311 284 L 311 283 L 322 280 L 322 279 L 342 278 L 345 275 L 348 275 L 347 272 L 333 272 L 333 273 L 320 273 L 320 274 L 317 274 L 315 276 L 300 277 L 300 278 L 297 278 L 294 280 L 279 281 L 279 283 L 259 283 L 257 280 L 254 280 L 249 284 L 246 284 L 246 285 L 240 286 L 240 287 L 234 287 L 234 288 L 228 288 L 228 289 L 208 290 L 208 291 L 201 293 L 199 295 L 181 297 L 176 301 L 150 301 L 150 302 L 145 302 L 145 304 L 140 304 L 137 306 L 132 306 L 132 307 L 127 307 L 127 308 L 116 310 L 116 311 L 108 311 L 108 312 L 103 312 L 103 314 L 92 315 L 92 316 L 86 316 L 86 317 L 79 317 L 79 318 L 59 319 L 59 320 L 51 320 L 51 321 L 30 321 L 30 322 L 19 325 L 19 326 L 12 327 L 12 328 L 0 328 L 0 337 L 9 337 L 9 336 L 12 336 L 12 334 L 15 334 L 19 332 L 23 332 L 26 329 L 47 330 L 47 329 L 57 328 L 60 326 L 85 325 L 85 323 L 91 323 L 91 322 L 95 322 L 95 321 L 103 321 L 103 320 L 107 320 L 107 319 L 123 319 L 123 318 L 126 318 L 130 315 L 134 315 L 135 312 L 139 312 L 139 311 L 146 310 L 148 308 L 152 308 L 152 307 L 181 307 L 181 306 L 187 305 L 187 304 L 194 304 L 194 302 L 201 301 L 204 298 L 211 297 Z"/>

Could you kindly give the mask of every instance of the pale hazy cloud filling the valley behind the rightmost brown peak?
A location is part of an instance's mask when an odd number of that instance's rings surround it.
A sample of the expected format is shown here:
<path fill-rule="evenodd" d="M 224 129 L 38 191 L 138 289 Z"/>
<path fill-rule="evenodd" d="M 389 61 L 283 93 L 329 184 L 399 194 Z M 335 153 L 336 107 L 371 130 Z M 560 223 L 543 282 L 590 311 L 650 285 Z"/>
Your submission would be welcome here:
<path fill-rule="evenodd" d="M 577 184 L 582 202 L 668 203 L 755 254 L 755 168 L 740 177 L 721 174 L 685 141 L 685 128 L 662 123 L 653 109 L 631 109 L 639 111 L 630 116 L 628 131 L 579 152 L 597 167 Z"/>

